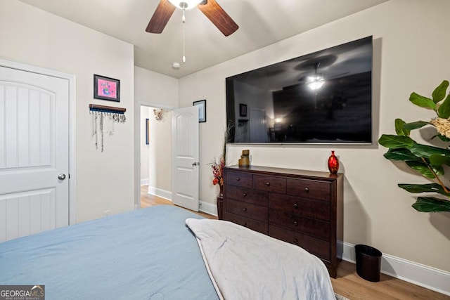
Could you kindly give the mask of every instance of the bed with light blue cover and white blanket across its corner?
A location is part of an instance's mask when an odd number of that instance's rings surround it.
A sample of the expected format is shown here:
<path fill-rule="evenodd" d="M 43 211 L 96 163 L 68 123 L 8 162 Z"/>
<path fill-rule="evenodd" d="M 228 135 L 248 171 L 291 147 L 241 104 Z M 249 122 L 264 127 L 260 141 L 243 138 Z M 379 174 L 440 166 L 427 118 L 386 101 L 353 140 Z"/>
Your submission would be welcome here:
<path fill-rule="evenodd" d="M 172 205 L 2 242 L 0 285 L 44 285 L 46 299 L 335 299 L 316 256 Z"/>

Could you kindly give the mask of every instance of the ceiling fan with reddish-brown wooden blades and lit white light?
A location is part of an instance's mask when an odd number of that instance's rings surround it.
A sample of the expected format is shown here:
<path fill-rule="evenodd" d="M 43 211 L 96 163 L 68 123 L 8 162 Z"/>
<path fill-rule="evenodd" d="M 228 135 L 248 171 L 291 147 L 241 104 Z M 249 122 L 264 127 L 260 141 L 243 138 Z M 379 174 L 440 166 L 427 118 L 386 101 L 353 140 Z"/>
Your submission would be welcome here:
<path fill-rule="evenodd" d="M 167 25 L 167 22 L 169 22 L 169 18 L 174 13 L 175 8 L 185 10 L 194 8 L 195 6 L 210 19 L 225 37 L 238 30 L 239 26 L 217 4 L 216 0 L 160 0 L 160 4 L 158 4 L 155 13 L 153 13 L 150 22 L 148 22 L 146 32 L 161 33 Z"/>

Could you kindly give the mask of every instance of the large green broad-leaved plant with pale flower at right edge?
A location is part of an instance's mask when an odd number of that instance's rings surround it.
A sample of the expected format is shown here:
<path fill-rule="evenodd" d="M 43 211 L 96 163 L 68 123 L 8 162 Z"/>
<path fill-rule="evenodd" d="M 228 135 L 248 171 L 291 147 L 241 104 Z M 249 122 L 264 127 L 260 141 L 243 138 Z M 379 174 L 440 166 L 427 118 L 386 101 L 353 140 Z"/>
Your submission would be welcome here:
<path fill-rule="evenodd" d="M 444 176 L 444 166 L 450 166 L 450 148 L 439 148 L 432 145 L 417 143 L 411 138 L 414 129 L 423 126 L 434 126 L 436 134 L 432 138 L 439 138 L 444 143 L 450 143 L 450 94 L 447 94 L 449 81 L 442 81 L 432 92 L 432 98 L 411 93 L 411 103 L 436 112 L 437 117 L 430 121 L 416 121 L 406 123 L 402 119 L 395 119 L 396 135 L 383 134 L 378 143 L 389 148 L 384 157 L 391 160 L 403 161 L 408 167 L 428 178 L 432 183 L 409 184 L 399 183 L 399 187 L 410 193 L 434 193 L 427 197 L 417 197 L 413 208 L 417 211 L 436 212 L 450 211 L 450 188 Z"/>

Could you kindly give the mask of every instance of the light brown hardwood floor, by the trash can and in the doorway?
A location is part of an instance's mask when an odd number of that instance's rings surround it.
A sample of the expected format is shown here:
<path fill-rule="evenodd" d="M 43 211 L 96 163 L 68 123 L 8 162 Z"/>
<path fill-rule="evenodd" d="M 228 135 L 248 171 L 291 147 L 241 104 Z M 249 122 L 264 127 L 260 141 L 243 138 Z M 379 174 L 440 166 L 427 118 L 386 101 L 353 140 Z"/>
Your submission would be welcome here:
<path fill-rule="evenodd" d="M 153 205 L 170 204 L 172 201 L 150 195 L 147 193 L 148 187 L 141 185 L 141 207 Z M 201 216 L 209 219 L 217 219 L 216 216 L 198 212 Z M 381 274 L 380 282 L 370 282 L 359 277 L 356 273 L 356 265 L 348 261 L 341 261 L 338 266 L 338 278 L 331 278 L 331 284 L 336 293 L 347 297 L 350 300 L 409 300 L 423 299 L 450 300 L 450 296 L 439 294 L 430 289 L 413 285 L 412 283 L 392 278 Z"/>

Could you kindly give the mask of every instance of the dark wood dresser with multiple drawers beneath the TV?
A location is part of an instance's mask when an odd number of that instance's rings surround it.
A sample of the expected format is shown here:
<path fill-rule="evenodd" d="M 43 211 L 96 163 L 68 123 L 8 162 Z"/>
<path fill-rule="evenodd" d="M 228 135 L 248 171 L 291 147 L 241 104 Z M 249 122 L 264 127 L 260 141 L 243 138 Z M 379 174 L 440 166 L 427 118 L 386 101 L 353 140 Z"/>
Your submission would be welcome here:
<path fill-rule="evenodd" d="M 333 278 L 342 257 L 342 202 L 342 174 L 257 166 L 224 169 L 223 219 L 297 244 L 318 256 Z"/>

